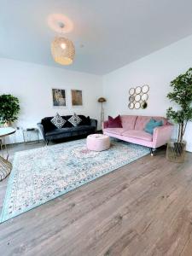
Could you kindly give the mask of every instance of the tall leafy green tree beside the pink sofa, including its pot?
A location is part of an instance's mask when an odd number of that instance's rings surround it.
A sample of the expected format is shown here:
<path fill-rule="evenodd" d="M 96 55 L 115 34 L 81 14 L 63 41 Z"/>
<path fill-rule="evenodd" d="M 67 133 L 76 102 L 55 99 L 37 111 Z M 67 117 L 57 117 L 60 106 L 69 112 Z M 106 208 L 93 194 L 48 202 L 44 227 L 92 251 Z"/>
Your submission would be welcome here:
<path fill-rule="evenodd" d="M 177 124 L 177 139 L 167 143 L 166 158 L 174 162 L 183 162 L 185 158 L 186 142 L 183 135 L 189 121 L 192 121 L 192 67 L 186 73 L 179 75 L 171 82 L 172 92 L 167 97 L 176 102 L 178 110 L 168 108 L 166 116 Z"/>

